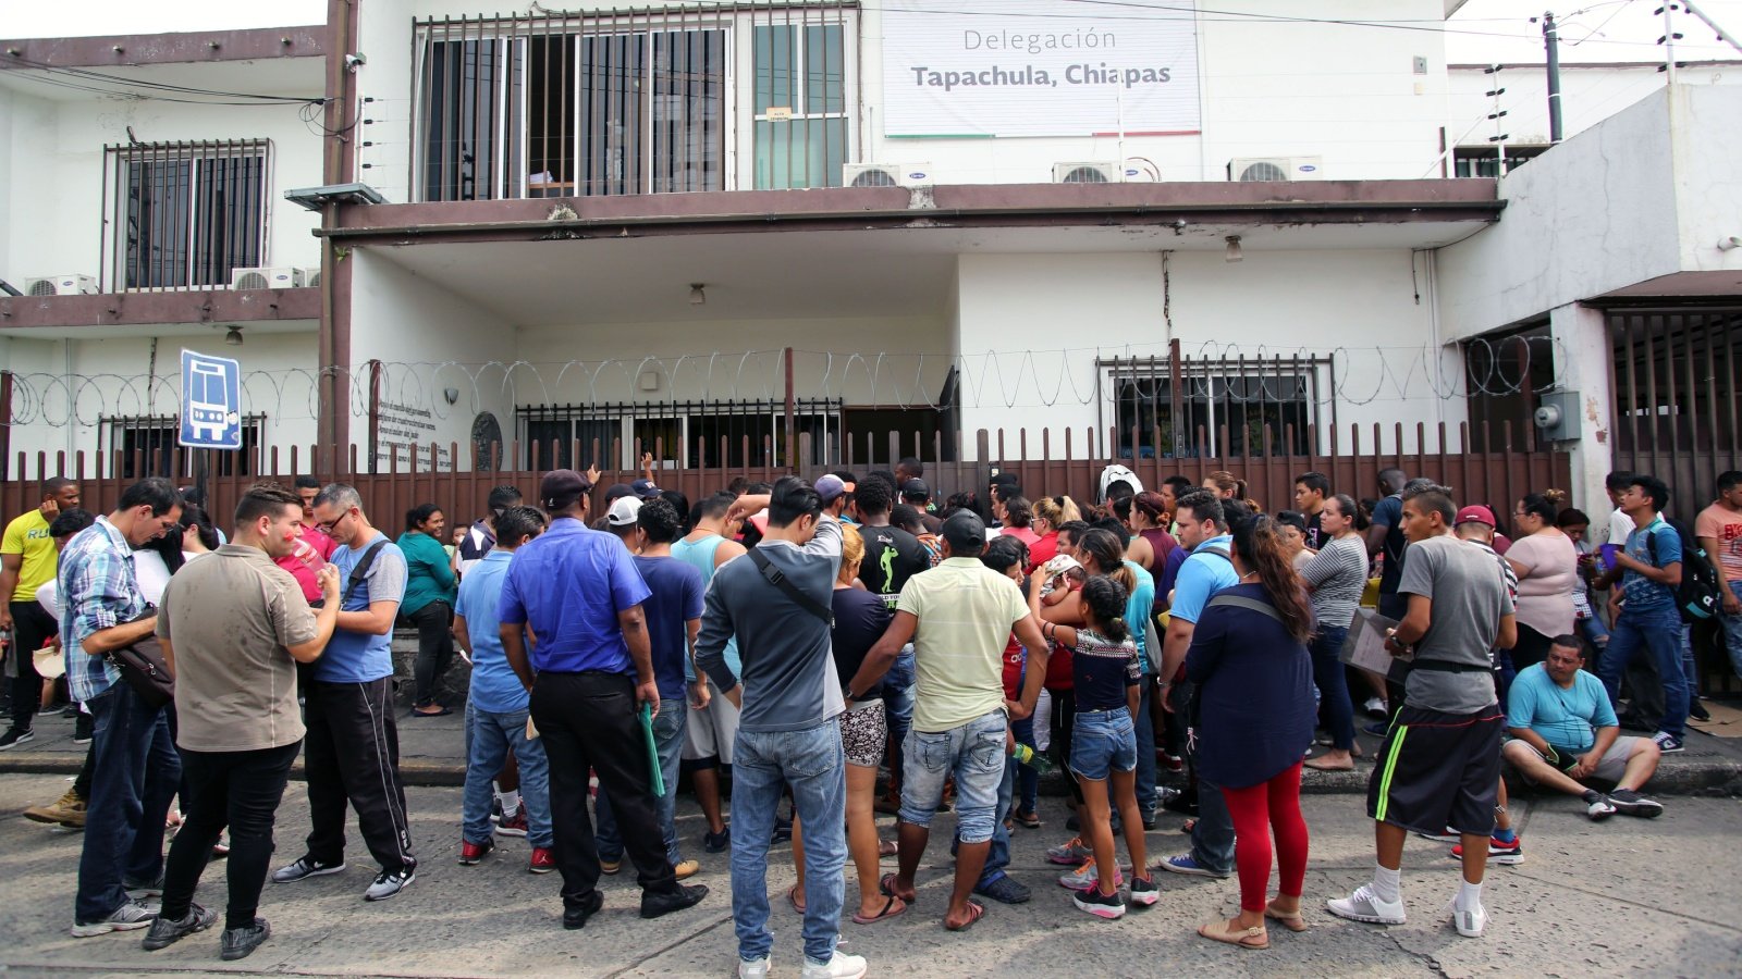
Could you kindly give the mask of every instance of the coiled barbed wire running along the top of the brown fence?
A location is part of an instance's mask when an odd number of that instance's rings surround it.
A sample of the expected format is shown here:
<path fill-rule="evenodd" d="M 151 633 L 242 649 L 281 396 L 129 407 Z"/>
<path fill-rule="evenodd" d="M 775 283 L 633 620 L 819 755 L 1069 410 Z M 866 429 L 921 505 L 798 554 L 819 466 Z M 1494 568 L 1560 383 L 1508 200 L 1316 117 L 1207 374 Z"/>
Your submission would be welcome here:
<path fill-rule="evenodd" d="M 1310 401 L 1315 406 L 1451 401 L 1542 394 L 1561 381 L 1564 347 L 1552 336 L 1472 340 L 1455 348 L 1296 347 L 1205 341 L 1169 361 L 1167 343 L 1052 350 L 862 352 L 793 350 L 793 397 L 895 409 L 1082 408 L 1120 397 L 1118 381 L 1167 381 L 1179 375 L 1181 399 L 1225 404 Z M 1533 383 L 1540 364 L 1547 383 Z M 587 408 L 660 402 L 784 402 L 786 350 L 683 355 L 648 354 L 599 361 L 373 361 L 357 368 L 244 371 L 244 415 L 315 420 L 326 388 L 336 388 L 352 418 L 373 408 L 472 418 L 517 408 Z M 643 390 L 648 373 L 658 397 Z M 1280 397 L 1286 381 L 1298 394 Z M 336 381 L 336 383 L 329 383 Z M 162 415 L 181 402 L 176 375 L 14 373 L 10 425 L 94 427 L 106 420 Z"/>

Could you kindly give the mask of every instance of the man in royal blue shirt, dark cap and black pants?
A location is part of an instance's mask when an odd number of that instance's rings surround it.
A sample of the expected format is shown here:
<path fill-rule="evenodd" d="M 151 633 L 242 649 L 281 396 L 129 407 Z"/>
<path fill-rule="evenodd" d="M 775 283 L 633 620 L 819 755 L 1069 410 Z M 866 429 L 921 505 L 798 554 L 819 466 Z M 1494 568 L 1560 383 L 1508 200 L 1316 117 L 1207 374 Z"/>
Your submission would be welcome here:
<path fill-rule="evenodd" d="M 550 760 L 564 928 L 585 927 L 604 906 L 587 815 L 589 768 L 617 807 L 641 881 L 641 916 L 658 918 L 707 895 L 706 887 L 678 883 L 665 859 L 652 760 L 636 716 L 643 706 L 657 714 L 660 704 L 641 610 L 648 587 L 620 540 L 587 530 L 591 488 L 571 469 L 544 477 L 538 498 L 550 530 L 516 552 L 496 608 L 502 650 L 531 692 L 533 725 Z M 530 652 L 528 632 L 538 638 Z"/>

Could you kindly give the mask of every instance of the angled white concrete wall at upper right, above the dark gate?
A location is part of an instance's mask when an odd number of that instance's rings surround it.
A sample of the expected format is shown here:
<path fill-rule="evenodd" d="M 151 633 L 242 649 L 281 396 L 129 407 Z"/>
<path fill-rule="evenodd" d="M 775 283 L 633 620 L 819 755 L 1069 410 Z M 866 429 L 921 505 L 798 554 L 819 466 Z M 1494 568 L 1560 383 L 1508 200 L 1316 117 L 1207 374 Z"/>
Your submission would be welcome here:
<path fill-rule="evenodd" d="M 1742 89 L 1707 92 L 1733 101 Z M 1658 92 L 1507 176 L 1500 221 L 1441 251 L 1446 336 L 1475 336 L 1679 270 L 1669 132 L 1671 99 Z"/>

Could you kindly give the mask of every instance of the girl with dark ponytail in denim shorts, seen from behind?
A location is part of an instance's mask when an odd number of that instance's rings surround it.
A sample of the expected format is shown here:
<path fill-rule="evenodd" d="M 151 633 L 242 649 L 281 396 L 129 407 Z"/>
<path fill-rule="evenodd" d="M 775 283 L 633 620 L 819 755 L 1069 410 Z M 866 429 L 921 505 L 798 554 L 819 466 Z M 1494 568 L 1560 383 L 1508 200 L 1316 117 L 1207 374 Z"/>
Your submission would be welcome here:
<path fill-rule="evenodd" d="M 1085 537 L 1096 533 L 1104 531 L 1089 531 Z M 1125 577 L 1131 577 L 1129 570 L 1125 571 Z M 1077 615 L 1082 625 L 1073 627 L 1045 622 L 1040 589 L 1040 577 L 1030 577 L 1028 606 L 1036 618 L 1042 618 L 1042 634 L 1071 650 L 1077 718 L 1070 770 L 1082 786 L 1082 834 L 1092 852 L 1077 871 L 1059 878 L 1059 883 L 1077 892 L 1071 902 L 1078 909 L 1099 918 L 1122 918 L 1125 901 L 1118 892 L 1122 874 L 1108 807 L 1110 780 L 1113 803 L 1118 805 L 1125 824 L 1125 848 L 1131 852 L 1131 901 L 1148 908 L 1160 899 L 1143 850 L 1143 815 L 1138 812 L 1138 733 L 1132 718 L 1138 712 L 1143 671 L 1138 665 L 1138 643 L 1124 618 L 1129 592 L 1110 575 L 1090 577 L 1077 592 Z"/>

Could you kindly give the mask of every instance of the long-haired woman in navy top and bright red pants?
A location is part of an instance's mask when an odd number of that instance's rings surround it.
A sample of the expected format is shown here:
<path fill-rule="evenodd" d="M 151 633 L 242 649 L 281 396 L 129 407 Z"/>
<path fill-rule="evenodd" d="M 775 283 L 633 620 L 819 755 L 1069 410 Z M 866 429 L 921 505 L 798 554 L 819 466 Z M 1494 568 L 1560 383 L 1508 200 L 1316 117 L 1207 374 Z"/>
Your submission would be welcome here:
<path fill-rule="evenodd" d="M 1312 604 L 1289 566 L 1275 521 L 1258 516 L 1233 531 L 1240 584 L 1211 598 L 1192 632 L 1186 676 L 1198 685 L 1193 733 L 1198 770 L 1221 786 L 1233 817 L 1240 916 L 1198 928 L 1205 939 L 1270 948 L 1265 918 L 1306 930 L 1306 820 L 1301 756 L 1312 744 Z M 1273 901 L 1270 836 L 1282 881 Z"/>

